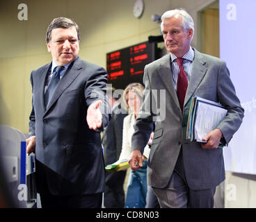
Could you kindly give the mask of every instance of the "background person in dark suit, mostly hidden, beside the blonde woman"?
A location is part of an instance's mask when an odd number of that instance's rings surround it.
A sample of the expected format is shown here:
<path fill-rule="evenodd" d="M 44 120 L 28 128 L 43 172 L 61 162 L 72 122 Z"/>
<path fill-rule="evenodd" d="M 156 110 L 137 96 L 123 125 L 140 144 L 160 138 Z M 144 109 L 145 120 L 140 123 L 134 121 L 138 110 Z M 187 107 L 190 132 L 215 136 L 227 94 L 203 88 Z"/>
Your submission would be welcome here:
<path fill-rule="evenodd" d="M 127 116 L 126 110 L 118 102 L 114 87 L 108 87 L 107 96 L 112 108 L 112 118 L 102 135 L 105 165 L 116 162 L 122 151 L 122 126 Z M 122 96 L 122 95 L 121 95 Z M 106 208 L 122 208 L 125 205 L 125 191 L 123 188 L 126 171 L 106 172 L 106 189 L 104 192 L 104 206 Z"/>

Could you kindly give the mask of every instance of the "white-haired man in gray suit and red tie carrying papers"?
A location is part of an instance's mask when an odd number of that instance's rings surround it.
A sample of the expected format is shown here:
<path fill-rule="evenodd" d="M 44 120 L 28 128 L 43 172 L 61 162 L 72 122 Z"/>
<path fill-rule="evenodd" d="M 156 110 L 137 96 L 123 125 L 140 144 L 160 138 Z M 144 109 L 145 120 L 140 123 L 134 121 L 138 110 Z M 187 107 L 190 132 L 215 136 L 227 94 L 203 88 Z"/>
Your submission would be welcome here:
<path fill-rule="evenodd" d="M 141 153 L 155 121 L 147 178 L 161 207 L 213 207 L 216 186 L 225 180 L 223 150 L 218 144 L 230 142 L 241 125 L 243 108 L 225 62 L 191 47 L 194 24 L 185 10 L 165 12 L 161 31 L 170 54 L 145 67 L 143 108 L 134 126 L 129 164 L 132 170 L 142 167 Z M 165 101 L 157 96 L 161 90 L 165 90 Z M 189 101 L 195 95 L 227 109 L 225 118 L 204 138 L 206 143 L 188 142 L 184 137 Z M 165 108 L 155 117 L 153 111 L 164 102 Z"/>

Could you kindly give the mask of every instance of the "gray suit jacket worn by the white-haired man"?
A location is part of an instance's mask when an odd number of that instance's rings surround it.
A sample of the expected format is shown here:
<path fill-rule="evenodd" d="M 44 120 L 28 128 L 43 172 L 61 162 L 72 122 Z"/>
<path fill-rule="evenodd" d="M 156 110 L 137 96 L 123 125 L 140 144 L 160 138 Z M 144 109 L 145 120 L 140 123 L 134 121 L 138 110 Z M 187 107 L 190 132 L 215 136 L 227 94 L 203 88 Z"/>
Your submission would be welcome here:
<path fill-rule="evenodd" d="M 189 101 L 192 96 L 197 95 L 225 106 L 227 115 L 217 128 L 223 132 L 224 142 L 227 144 L 230 142 L 232 135 L 241 125 L 243 108 L 236 96 L 229 71 L 223 60 L 195 50 L 183 113 L 179 107 L 171 76 L 170 55 L 163 56 L 145 67 L 144 100 L 141 114 L 134 126 L 132 148 L 143 151 L 152 132 L 152 123 L 156 121 L 147 170 L 149 185 L 166 187 L 182 147 L 184 170 L 189 187 L 191 189 L 215 187 L 225 179 L 223 150 L 202 149 L 200 143 L 189 142 L 184 135 Z M 161 98 L 157 96 L 160 92 L 163 93 Z M 155 117 L 159 106 L 158 117 Z M 142 112 L 143 110 L 145 112 Z"/>

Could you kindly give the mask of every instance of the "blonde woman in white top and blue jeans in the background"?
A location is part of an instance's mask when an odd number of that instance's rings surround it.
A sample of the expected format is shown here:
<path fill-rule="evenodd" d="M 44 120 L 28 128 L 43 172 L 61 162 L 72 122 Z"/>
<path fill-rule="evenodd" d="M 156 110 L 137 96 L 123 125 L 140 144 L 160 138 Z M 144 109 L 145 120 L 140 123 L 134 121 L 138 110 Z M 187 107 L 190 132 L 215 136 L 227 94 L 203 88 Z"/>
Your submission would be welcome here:
<path fill-rule="evenodd" d="M 140 83 L 131 83 L 125 88 L 123 100 L 127 104 L 130 114 L 125 117 L 122 130 L 122 152 L 119 160 L 129 159 L 131 155 L 131 136 L 134 133 L 134 123 L 138 117 L 143 99 L 144 87 Z M 150 149 L 145 148 L 145 161 L 138 171 L 131 171 L 127 185 L 125 207 L 144 208 L 147 195 L 147 157 Z"/>

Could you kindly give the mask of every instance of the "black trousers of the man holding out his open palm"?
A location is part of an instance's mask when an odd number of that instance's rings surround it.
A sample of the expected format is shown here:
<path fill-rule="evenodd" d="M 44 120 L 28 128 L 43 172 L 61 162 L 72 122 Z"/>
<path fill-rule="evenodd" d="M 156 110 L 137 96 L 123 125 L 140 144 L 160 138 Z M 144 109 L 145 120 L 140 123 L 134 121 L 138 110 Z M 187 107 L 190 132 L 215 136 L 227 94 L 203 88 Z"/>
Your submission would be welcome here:
<path fill-rule="evenodd" d="M 102 193 L 58 196 L 50 193 L 45 181 L 40 193 L 42 208 L 102 208 Z"/>

